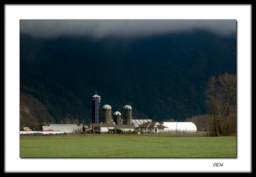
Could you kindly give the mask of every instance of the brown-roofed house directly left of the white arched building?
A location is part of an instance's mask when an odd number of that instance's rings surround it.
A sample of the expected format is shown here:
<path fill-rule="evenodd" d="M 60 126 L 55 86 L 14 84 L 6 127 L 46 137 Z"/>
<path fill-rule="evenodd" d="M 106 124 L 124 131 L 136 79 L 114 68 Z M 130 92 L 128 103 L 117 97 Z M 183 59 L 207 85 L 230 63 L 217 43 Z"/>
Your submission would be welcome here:
<path fill-rule="evenodd" d="M 141 133 L 146 132 L 164 132 L 164 129 L 168 127 L 165 127 L 164 125 L 159 124 L 159 122 L 144 122 L 142 125 L 139 126 Z"/>

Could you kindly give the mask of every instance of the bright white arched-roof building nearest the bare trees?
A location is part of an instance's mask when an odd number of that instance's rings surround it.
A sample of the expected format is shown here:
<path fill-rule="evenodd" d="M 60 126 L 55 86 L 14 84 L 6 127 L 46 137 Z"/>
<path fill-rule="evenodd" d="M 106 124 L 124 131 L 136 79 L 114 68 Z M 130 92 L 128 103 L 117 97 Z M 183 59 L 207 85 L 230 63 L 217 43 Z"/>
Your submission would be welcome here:
<path fill-rule="evenodd" d="M 165 132 L 196 132 L 196 125 L 193 122 L 163 122 Z"/>

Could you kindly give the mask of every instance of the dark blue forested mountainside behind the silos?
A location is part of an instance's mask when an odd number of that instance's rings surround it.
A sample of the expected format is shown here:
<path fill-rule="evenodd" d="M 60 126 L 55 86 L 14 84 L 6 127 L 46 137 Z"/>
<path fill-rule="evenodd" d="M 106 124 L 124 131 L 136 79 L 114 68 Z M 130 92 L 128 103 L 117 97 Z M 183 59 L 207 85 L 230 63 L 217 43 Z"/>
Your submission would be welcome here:
<path fill-rule="evenodd" d="M 46 122 L 68 117 L 89 123 L 95 88 L 112 113 L 130 104 L 133 118 L 182 121 L 205 113 L 206 83 L 225 72 L 236 74 L 236 36 L 193 31 L 133 39 L 40 39 L 20 34 L 20 124 L 33 100 L 49 113 L 42 114 Z"/>

